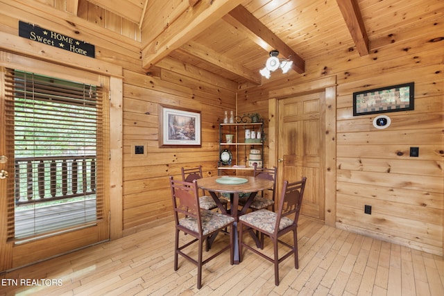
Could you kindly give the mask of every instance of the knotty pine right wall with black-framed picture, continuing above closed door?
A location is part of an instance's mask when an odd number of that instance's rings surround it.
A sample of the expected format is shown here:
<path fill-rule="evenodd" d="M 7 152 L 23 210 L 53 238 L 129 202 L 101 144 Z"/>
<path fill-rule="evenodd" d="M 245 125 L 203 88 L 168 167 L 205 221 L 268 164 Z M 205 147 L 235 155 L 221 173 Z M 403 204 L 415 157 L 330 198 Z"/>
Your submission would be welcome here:
<path fill-rule="evenodd" d="M 336 198 L 336 227 L 443 254 L 443 30 L 430 24 L 370 42 L 364 57 L 347 51 L 309 60 L 302 76 L 276 72 L 263 87 L 239 92 L 239 110 L 268 114 L 266 101 L 279 89 L 336 76 L 336 196 L 326 196 Z M 389 128 L 373 128 L 379 114 L 353 116 L 353 92 L 405 82 L 415 82 L 415 110 L 387 113 Z M 410 147 L 419 157 L 409 157 Z"/>

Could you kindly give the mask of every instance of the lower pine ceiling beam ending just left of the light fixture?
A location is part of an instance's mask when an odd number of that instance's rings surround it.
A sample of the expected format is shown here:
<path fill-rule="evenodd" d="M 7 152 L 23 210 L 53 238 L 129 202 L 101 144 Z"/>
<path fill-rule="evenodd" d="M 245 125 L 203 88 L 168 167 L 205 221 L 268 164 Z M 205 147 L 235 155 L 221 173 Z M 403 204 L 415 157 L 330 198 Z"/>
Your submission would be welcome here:
<path fill-rule="evenodd" d="M 226 58 L 224 55 L 220 53 L 216 53 L 212 49 L 203 46 L 203 44 L 199 44 L 197 42 L 188 42 L 180 47 L 181 51 L 185 51 L 188 55 L 192 55 L 200 60 L 203 60 L 207 63 L 213 64 L 216 67 L 219 67 L 225 71 L 229 71 L 231 73 L 240 76 L 249 82 L 253 82 L 255 85 L 260 85 L 262 82 L 259 71 L 251 71 L 246 67 L 233 62 L 229 58 Z"/>

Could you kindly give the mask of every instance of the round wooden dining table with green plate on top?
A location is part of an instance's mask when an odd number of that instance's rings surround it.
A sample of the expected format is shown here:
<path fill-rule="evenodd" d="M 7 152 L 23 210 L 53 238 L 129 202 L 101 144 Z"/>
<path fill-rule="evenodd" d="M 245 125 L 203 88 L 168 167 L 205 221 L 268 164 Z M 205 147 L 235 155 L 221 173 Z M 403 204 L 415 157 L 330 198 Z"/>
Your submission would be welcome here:
<path fill-rule="evenodd" d="M 234 218 L 234 263 L 239 264 L 239 241 L 237 238 L 238 218 L 246 214 L 257 192 L 273 188 L 273 181 L 251 176 L 213 176 L 198 179 L 197 185 L 200 189 L 204 189 L 210 193 L 222 214 L 227 214 Z M 223 204 L 219 200 L 218 193 L 230 194 L 230 209 L 223 207 Z M 248 200 L 240 210 L 239 193 L 250 193 Z M 214 241 L 214 238 L 216 238 L 216 235 L 210 238 L 210 245 L 212 241 Z M 255 238 L 255 241 L 258 244 L 257 238 Z"/>

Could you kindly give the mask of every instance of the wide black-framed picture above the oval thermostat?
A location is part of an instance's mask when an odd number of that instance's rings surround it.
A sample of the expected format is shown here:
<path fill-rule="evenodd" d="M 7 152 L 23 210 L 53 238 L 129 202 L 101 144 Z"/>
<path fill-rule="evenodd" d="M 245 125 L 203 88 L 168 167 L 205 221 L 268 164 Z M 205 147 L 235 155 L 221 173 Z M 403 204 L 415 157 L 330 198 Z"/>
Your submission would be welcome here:
<path fill-rule="evenodd" d="M 414 110 L 414 82 L 353 93 L 353 116 Z"/>

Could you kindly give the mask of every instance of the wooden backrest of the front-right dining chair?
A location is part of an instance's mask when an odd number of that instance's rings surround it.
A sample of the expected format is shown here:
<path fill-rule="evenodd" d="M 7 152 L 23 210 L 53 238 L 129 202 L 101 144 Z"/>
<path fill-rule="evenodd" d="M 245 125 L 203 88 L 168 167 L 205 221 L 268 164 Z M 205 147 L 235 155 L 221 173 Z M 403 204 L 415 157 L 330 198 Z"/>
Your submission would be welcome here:
<path fill-rule="evenodd" d="M 300 207 L 304 196 L 307 177 L 302 177 L 298 182 L 289 183 L 284 181 L 282 195 L 279 200 L 278 218 L 276 219 L 275 232 L 278 233 L 280 220 L 284 217 L 293 220 L 293 225 L 298 224 Z"/>

